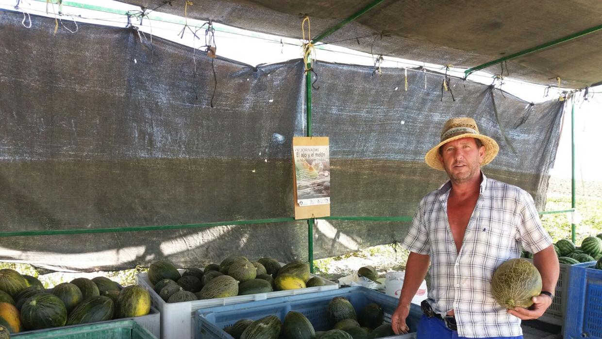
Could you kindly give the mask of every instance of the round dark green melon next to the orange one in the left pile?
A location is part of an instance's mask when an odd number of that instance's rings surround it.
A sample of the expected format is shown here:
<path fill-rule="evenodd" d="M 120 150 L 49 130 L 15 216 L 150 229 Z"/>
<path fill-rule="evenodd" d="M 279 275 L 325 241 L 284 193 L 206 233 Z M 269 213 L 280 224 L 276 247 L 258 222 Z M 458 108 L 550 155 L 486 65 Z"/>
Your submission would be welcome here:
<path fill-rule="evenodd" d="M 54 294 L 40 293 L 26 299 L 21 307 L 20 319 L 23 328 L 29 331 L 64 326 L 67 309 Z"/>

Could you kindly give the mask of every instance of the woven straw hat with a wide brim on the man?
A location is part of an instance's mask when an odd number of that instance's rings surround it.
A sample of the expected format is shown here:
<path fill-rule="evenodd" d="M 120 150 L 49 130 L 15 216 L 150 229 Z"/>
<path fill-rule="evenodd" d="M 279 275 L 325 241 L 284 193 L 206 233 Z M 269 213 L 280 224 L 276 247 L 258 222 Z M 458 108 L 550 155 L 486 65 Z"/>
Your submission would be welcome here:
<path fill-rule="evenodd" d="M 441 142 L 431 148 L 429 152 L 426 152 L 424 162 L 430 167 L 433 167 L 433 169 L 445 170 L 443 164 L 437 157 L 439 155 L 439 147 L 448 142 L 452 142 L 453 140 L 468 137 L 481 140 L 483 146 L 485 146 L 485 157 L 483 158 L 483 161 L 481 161 L 481 166 L 491 163 L 491 160 L 493 160 L 497 155 L 497 152 L 500 151 L 500 147 L 495 140 L 479 133 L 479 128 L 477 127 L 477 123 L 474 122 L 474 119 L 470 117 L 458 117 L 449 119 L 445 122 L 445 125 L 441 130 Z"/>

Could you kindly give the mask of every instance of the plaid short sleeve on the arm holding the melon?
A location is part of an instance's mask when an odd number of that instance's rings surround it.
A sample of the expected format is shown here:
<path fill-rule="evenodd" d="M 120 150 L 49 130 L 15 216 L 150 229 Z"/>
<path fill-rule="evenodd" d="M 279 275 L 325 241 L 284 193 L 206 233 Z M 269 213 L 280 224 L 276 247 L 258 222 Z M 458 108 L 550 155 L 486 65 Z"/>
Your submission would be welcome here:
<path fill-rule="evenodd" d="M 537 253 L 552 244 L 552 238 L 541 225 L 533 197 L 526 191 L 521 191 L 519 196 L 517 217 L 518 235 L 524 249 Z"/>

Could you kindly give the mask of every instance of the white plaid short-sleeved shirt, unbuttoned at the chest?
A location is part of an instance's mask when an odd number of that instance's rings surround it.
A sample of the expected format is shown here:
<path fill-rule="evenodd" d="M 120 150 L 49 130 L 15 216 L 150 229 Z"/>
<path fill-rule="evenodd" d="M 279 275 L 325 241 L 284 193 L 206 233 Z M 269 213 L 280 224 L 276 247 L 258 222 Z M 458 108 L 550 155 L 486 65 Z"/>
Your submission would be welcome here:
<path fill-rule="evenodd" d="M 552 240 L 529 193 L 482 177 L 459 254 L 447 220 L 449 181 L 422 199 L 402 246 L 430 255 L 428 301 L 442 316 L 454 309 L 458 335 L 514 337 L 523 332 L 521 320 L 495 302 L 491 277 L 501 263 L 520 257 L 521 246 L 537 253 Z"/>

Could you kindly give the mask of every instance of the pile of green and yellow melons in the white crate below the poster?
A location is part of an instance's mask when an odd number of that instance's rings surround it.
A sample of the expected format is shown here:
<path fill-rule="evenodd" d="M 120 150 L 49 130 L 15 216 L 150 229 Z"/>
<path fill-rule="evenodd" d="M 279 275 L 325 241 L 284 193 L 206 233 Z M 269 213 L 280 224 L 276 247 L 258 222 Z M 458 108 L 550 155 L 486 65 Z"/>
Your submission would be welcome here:
<path fill-rule="evenodd" d="M 273 258 L 249 261 L 228 257 L 203 269 L 187 269 L 180 275 L 169 261 L 157 261 L 149 267 L 153 289 L 166 302 L 186 302 L 322 286 L 321 278 L 309 279 L 309 266 L 291 263 L 281 267 Z"/>

